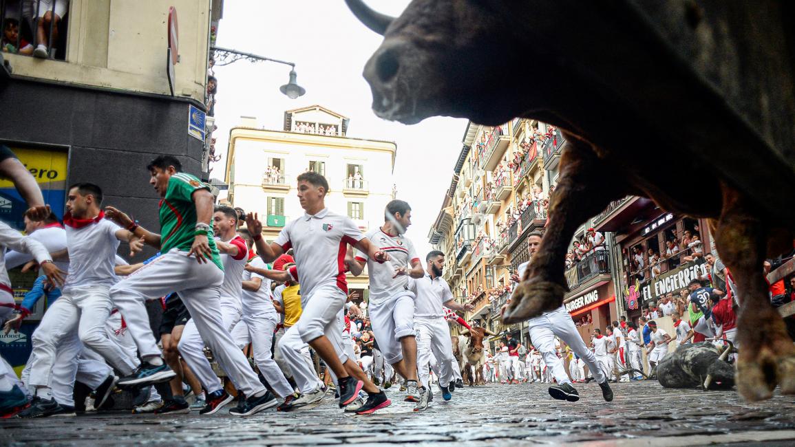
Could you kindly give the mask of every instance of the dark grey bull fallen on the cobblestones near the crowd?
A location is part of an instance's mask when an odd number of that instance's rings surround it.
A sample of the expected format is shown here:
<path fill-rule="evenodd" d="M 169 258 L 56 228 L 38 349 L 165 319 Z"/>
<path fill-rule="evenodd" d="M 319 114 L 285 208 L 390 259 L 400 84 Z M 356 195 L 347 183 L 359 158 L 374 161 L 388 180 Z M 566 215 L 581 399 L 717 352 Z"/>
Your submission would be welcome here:
<path fill-rule="evenodd" d="M 682 345 L 657 364 L 657 380 L 666 388 L 693 388 L 712 376 L 710 388 L 734 387 L 735 368 L 719 360 L 719 355 L 719 349 L 706 341 Z"/>

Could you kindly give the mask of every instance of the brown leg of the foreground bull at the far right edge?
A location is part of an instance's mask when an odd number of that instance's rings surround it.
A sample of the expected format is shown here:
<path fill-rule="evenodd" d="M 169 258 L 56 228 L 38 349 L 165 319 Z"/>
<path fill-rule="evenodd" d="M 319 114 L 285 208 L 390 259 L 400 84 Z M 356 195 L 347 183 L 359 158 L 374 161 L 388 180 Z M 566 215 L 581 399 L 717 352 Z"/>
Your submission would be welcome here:
<path fill-rule="evenodd" d="M 770 304 L 762 272 L 768 229 L 739 192 L 726 185 L 715 245 L 737 286 L 739 349 L 737 388 L 748 400 L 769 399 L 777 383 L 795 393 L 795 347 L 781 316 Z"/>

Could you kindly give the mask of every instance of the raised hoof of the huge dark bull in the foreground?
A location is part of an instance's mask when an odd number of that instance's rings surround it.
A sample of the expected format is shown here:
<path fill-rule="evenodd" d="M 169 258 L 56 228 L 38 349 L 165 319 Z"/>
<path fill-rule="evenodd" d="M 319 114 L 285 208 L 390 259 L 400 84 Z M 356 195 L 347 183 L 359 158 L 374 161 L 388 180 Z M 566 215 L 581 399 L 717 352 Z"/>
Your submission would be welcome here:
<path fill-rule="evenodd" d="M 514 290 L 502 322 L 512 324 L 555 310 L 563 302 L 566 287 L 552 281 L 524 281 Z"/>

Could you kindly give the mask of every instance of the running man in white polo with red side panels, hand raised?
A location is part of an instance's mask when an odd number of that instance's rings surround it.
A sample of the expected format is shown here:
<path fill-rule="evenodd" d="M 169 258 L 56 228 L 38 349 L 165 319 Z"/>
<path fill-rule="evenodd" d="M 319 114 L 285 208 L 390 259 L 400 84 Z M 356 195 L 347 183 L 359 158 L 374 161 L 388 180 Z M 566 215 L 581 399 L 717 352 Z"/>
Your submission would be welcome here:
<path fill-rule="evenodd" d="M 256 214 L 249 214 L 246 218 L 246 226 L 254 237 L 262 260 L 273 262 L 292 248 L 299 266 L 304 310 L 297 325 L 281 338 L 281 353 L 285 357 L 295 353 L 300 356 L 297 348 L 308 343 L 339 380 L 339 407 L 353 402 L 359 391 L 364 389 L 367 401 L 356 413 L 372 413 L 389 406 L 391 401 L 367 380 L 362 369 L 343 348 L 340 315 L 347 301 L 343 260 L 348 244 L 355 245 L 378 262 L 390 260 L 390 256 L 371 245 L 350 218 L 326 208 L 328 181 L 323 175 L 308 171 L 298 175 L 297 181 L 298 199 L 305 214 L 281 229 L 276 241 L 268 244 L 262 240 L 262 222 Z M 293 360 L 293 364 L 302 361 L 301 358 Z"/>

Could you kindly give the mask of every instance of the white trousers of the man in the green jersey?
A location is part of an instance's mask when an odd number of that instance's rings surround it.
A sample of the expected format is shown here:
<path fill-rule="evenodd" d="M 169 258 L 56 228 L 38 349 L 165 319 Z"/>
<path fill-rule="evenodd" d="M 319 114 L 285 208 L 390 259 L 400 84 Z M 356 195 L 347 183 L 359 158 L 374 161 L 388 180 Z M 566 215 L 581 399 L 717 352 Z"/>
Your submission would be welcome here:
<path fill-rule="evenodd" d="M 172 249 L 111 287 L 111 297 L 124 315 L 127 327 L 138 345 L 138 353 L 146 359 L 160 356 L 161 352 L 149 328 L 145 302 L 168 295 L 176 289 L 204 343 L 210 347 L 235 387 L 247 396 L 262 395 L 265 387 L 250 368 L 246 356 L 232 341 L 229 329 L 223 326 L 219 310 L 219 287 L 222 282 L 223 272 L 217 265 L 211 262 L 199 264 L 196 258 L 188 257 L 187 252 Z M 184 339 L 183 333 L 180 345 Z M 185 358 L 185 361 L 195 373 L 202 368 L 198 359 Z"/>

